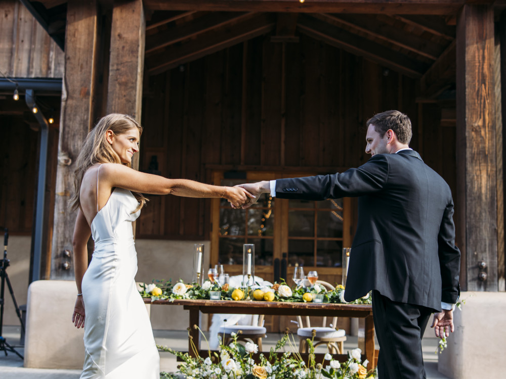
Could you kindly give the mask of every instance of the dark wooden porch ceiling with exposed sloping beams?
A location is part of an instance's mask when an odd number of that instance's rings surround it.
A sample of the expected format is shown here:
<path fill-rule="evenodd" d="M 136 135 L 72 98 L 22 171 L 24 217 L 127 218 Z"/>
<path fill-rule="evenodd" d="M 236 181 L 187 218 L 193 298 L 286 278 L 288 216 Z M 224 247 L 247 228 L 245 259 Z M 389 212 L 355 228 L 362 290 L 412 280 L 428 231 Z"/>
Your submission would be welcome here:
<path fill-rule="evenodd" d="M 28 0 L 27 0 L 28 1 Z M 490 4 L 482 0 L 474 3 Z M 61 38 L 67 2 L 32 2 Z M 466 0 L 143 0 L 145 74 L 156 75 L 262 34 L 305 34 L 420 78 L 420 97 L 455 86 L 455 20 Z M 497 2 L 496 2 L 497 3 Z M 500 2 L 499 2 L 500 3 Z M 113 0 L 100 0 L 107 15 Z M 499 6 L 497 6 L 499 9 Z M 501 11 L 502 8 L 499 9 Z"/>

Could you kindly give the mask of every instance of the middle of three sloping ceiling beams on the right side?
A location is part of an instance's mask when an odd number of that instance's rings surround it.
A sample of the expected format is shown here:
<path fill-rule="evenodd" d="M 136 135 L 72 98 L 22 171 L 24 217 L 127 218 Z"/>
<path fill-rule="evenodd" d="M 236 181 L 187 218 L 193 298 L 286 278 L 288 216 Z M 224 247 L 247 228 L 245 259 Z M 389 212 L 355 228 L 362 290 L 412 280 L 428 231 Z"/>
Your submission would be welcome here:
<path fill-rule="evenodd" d="M 416 34 L 409 34 L 403 32 L 394 26 L 378 20 L 374 16 L 357 16 L 357 15 L 322 15 L 328 20 L 327 22 L 333 24 L 337 22 L 336 26 L 346 25 L 363 33 L 366 33 L 372 38 L 379 38 L 386 42 L 399 46 L 416 53 L 420 56 L 437 60 L 444 47 L 431 42 L 425 38 L 419 37 Z"/>

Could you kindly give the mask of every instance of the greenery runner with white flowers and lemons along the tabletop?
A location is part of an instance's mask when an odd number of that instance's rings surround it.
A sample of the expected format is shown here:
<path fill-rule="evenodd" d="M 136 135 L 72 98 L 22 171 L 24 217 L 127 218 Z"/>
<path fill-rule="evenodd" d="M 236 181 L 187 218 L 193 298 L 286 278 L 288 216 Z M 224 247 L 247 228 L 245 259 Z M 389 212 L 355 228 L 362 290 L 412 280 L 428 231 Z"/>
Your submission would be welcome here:
<path fill-rule="evenodd" d="M 141 296 L 155 300 L 176 300 L 193 299 L 208 300 L 211 291 L 220 291 L 221 300 L 245 300 L 248 296 L 247 289 L 234 288 L 226 283 L 223 286 L 209 280 L 204 281 L 200 286 L 197 283 L 185 283 L 179 280 L 173 283 L 169 280 L 153 280 L 153 283 L 141 285 Z M 272 286 L 252 286 L 250 288 L 250 300 L 256 301 L 282 301 L 282 302 L 312 302 L 315 294 L 323 294 L 323 303 L 341 303 L 341 304 L 371 304 L 370 294 L 355 301 L 347 303 L 344 300 L 345 288 L 338 285 L 335 290 L 327 291 L 323 286 L 316 283 L 313 288 L 292 287 L 286 285 L 285 281 L 274 283 Z"/>

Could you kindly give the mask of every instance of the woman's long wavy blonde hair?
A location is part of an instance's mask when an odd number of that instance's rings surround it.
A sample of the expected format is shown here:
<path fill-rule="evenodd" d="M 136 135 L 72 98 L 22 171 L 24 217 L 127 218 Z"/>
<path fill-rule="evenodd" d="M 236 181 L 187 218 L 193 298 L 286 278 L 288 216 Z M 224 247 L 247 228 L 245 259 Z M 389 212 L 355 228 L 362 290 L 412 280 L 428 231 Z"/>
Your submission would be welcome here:
<path fill-rule="evenodd" d="M 129 115 L 111 113 L 102 117 L 97 125 L 88 133 L 75 162 L 74 193 L 69 199 L 69 205 L 72 211 L 76 211 L 79 208 L 79 193 L 82 177 L 91 166 L 99 163 L 118 163 L 132 167 L 131 163 L 121 162 L 117 153 L 107 142 L 106 132 L 107 130 L 112 130 L 114 134 L 124 134 L 134 127 L 139 129 L 139 135 L 141 135 L 142 126 L 134 118 Z M 134 192 L 133 195 L 139 202 L 139 206 L 134 211 L 137 212 L 146 204 L 148 199 L 136 192 Z"/>

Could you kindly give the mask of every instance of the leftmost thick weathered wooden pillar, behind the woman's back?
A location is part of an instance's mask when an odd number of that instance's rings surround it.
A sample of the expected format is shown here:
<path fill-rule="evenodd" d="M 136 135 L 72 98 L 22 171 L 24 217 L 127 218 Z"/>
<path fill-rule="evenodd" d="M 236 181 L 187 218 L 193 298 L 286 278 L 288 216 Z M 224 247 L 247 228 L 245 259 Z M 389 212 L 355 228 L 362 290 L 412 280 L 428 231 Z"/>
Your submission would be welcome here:
<path fill-rule="evenodd" d="M 67 4 L 65 37 L 65 73 L 62 89 L 58 168 L 56 173 L 55 217 L 53 227 L 51 278 L 66 279 L 74 275 L 72 234 L 75 213 L 68 210 L 73 191 L 74 164 L 90 128 L 93 126 L 93 98 L 97 59 L 97 0 Z M 70 264 L 67 269 L 64 263 Z"/>

